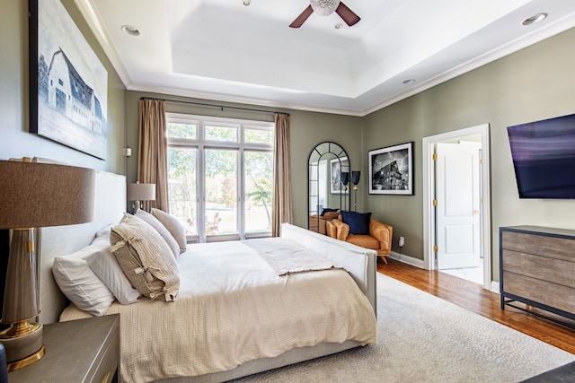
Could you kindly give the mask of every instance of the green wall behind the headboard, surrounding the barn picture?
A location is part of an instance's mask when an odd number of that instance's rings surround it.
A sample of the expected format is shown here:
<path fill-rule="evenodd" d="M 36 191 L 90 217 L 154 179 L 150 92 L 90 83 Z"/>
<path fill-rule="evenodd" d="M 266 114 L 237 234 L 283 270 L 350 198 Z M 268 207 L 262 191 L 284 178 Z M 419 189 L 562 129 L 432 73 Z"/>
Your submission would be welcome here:
<path fill-rule="evenodd" d="M 28 133 L 28 2 L 22 0 L 3 1 L 0 12 L 0 159 L 36 156 L 124 174 L 125 88 L 74 1 L 64 0 L 62 3 L 108 71 L 108 159 L 102 161 Z"/>

